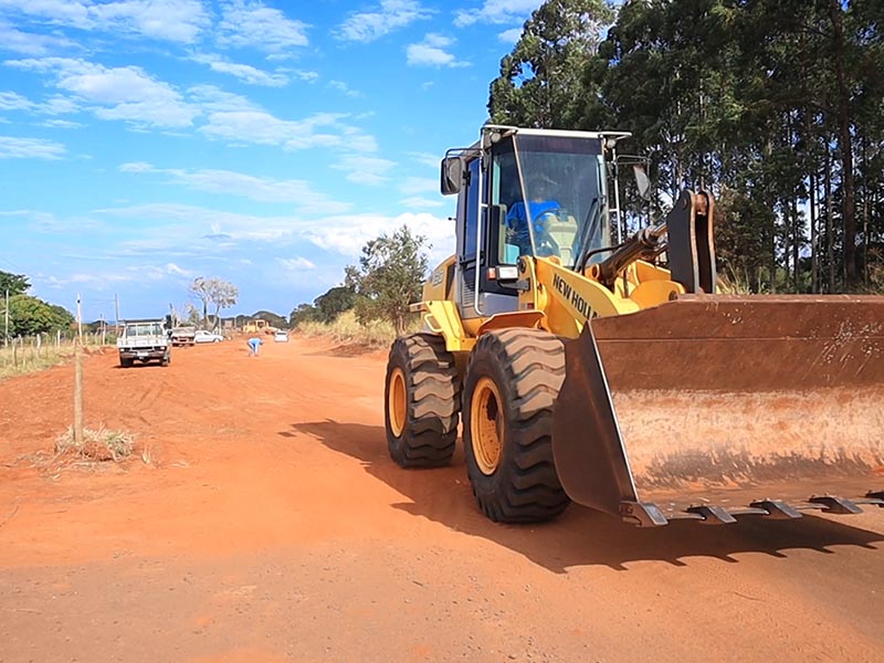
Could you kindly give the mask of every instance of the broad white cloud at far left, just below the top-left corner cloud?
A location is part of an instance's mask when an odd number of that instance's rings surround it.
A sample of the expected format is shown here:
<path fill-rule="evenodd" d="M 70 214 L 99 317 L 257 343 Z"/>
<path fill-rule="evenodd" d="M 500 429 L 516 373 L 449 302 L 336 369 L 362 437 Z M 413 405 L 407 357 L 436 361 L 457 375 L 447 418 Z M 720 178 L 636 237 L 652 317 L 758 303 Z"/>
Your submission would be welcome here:
<path fill-rule="evenodd" d="M 55 76 L 55 85 L 74 101 L 91 105 L 103 119 L 122 119 L 139 125 L 187 127 L 200 109 L 183 101 L 168 83 L 157 81 L 137 66 L 105 67 L 84 60 L 42 57 L 4 63 Z"/>

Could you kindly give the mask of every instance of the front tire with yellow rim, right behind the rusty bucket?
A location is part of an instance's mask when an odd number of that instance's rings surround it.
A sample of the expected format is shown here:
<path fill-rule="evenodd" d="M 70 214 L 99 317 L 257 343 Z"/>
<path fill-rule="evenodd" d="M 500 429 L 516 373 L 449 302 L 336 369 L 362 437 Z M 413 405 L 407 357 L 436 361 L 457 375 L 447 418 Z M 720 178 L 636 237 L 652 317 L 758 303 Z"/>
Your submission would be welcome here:
<path fill-rule="evenodd" d="M 480 508 L 498 523 L 537 523 L 564 512 L 552 461 L 552 408 L 565 347 L 539 329 L 484 334 L 466 369 L 463 439 Z"/>

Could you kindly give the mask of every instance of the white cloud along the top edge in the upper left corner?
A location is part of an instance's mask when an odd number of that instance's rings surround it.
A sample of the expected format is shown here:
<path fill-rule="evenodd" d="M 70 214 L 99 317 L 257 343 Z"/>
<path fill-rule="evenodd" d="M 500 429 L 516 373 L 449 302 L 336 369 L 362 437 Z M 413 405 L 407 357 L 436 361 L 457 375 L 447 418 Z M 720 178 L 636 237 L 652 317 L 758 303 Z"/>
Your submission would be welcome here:
<path fill-rule="evenodd" d="M 51 25 L 182 43 L 196 41 L 210 24 L 201 0 L 0 0 L 0 8 Z"/>

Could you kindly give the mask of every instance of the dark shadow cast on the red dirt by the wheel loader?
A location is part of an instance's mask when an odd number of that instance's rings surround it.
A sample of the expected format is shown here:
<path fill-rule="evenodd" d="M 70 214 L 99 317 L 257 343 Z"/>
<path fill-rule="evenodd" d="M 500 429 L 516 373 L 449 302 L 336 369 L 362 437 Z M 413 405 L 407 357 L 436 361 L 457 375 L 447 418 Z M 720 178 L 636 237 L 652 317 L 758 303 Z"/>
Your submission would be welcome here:
<path fill-rule="evenodd" d="M 312 435 L 329 449 L 359 460 L 366 472 L 411 499 L 393 505 L 396 508 L 493 540 L 555 572 L 582 565 L 624 570 L 629 562 L 646 560 L 685 566 L 682 558 L 696 556 L 736 564 L 738 560 L 733 556 L 738 552 L 787 557 L 785 550 L 789 549 L 831 555 L 830 546 L 851 545 L 876 550 L 873 544 L 884 541 L 882 534 L 814 516 L 792 522 L 747 517 L 736 525 L 725 526 L 676 522 L 666 527 L 639 529 L 613 516 L 577 505 L 571 505 L 552 523 L 499 525 L 487 520 L 478 511 L 460 449 L 450 467 L 402 470 L 387 453 L 382 427 L 322 421 L 293 424 L 291 430 L 280 434 L 294 436 L 297 433 Z"/>

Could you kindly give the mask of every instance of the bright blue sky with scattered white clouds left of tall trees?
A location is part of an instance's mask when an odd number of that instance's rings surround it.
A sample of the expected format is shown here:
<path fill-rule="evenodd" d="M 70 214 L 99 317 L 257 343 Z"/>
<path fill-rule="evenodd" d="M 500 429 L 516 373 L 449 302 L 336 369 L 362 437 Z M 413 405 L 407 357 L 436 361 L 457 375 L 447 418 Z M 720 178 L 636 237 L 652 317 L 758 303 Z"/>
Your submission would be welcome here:
<path fill-rule="evenodd" d="M 540 0 L 0 0 L 0 270 L 84 319 L 287 315 L 407 223 Z"/>

